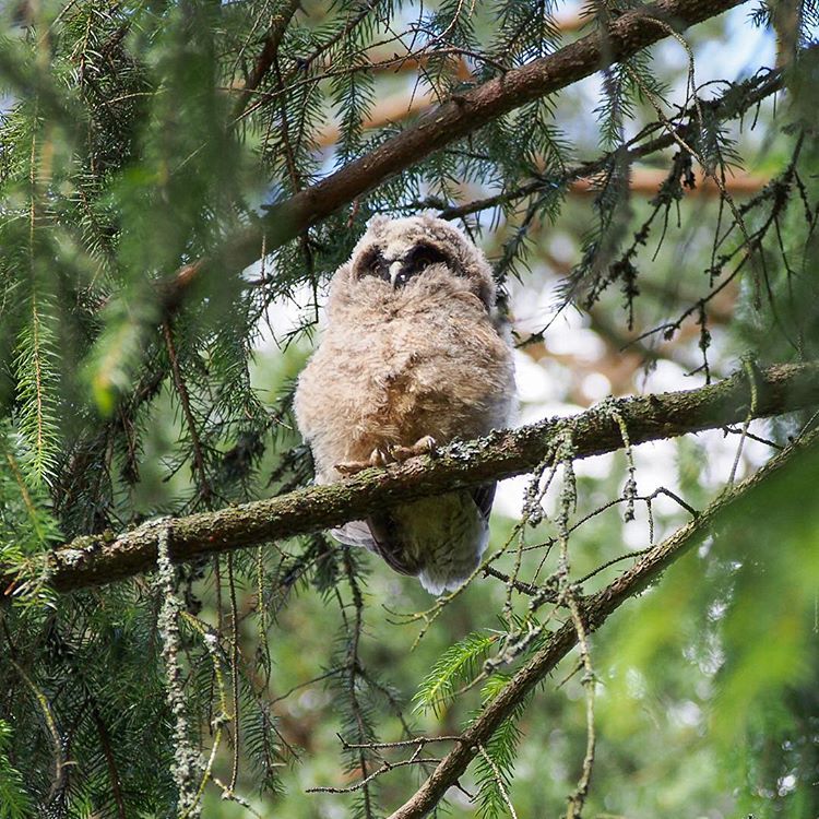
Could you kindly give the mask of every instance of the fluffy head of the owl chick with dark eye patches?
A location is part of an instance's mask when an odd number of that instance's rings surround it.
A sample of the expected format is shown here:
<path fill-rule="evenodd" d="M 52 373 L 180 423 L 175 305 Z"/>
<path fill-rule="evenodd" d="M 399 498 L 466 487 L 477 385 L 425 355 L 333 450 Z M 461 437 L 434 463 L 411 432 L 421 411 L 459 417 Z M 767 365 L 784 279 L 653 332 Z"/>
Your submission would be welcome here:
<path fill-rule="evenodd" d="M 491 269 L 454 225 L 435 216 L 375 216 L 333 278 L 333 296 L 387 304 L 444 288 L 465 289 L 495 307 Z"/>

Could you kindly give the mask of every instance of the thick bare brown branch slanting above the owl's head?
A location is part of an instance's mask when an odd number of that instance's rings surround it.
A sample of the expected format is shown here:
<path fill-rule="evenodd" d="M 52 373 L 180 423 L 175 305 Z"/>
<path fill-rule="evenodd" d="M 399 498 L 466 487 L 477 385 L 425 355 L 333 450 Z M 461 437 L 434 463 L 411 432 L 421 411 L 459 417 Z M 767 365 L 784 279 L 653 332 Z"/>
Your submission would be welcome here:
<path fill-rule="evenodd" d="M 603 33 L 590 34 L 548 57 L 508 71 L 467 93 L 455 94 L 366 156 L 272 207 L 258 224 L 221 248 L 212 263 L 244 269 L 259 259 L 265 234 L 266 248 L 274 250 L 487 122 L 632 57 L 669 36 L 669 26 L 682 31 L 743 2 L 745 0 L 660 0 L 622 14 Z"/>

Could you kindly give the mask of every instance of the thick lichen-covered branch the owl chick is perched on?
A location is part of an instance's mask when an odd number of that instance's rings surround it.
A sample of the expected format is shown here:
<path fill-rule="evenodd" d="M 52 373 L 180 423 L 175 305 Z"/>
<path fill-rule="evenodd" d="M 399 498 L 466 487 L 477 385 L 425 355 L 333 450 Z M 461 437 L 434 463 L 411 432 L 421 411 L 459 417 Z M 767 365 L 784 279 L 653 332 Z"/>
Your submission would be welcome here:
<path fill-rule="evenodd" d="M 755 371 L 753 417 L 768 417 L 819 404 L 819 363 L 779 365 Z M 644 397 L 612 400 L 570 418 L 551 418 L 484 439 L 453 443 L 435 458 L 367 470 L 353 478 L 316 486 L 269 500 L 179 518 L 171 526 L 171 557 L 191 560 L 358 520 L 399 500 L 437 495 L 529 472 L 549 451 L 557 431 L 570 426 L 577 456 L 620 449 L 613 418 L 616 406 L 632 443 L 670 438 L 745 420 L 751 415 L 748 377 L 737 373 L 717 384 Z M 48 556 L 49 583 L 60 592 L 150 571 L 156 562 L 156 527 L 143 526 L 119 537 L 78 537 Z M 10 581 L 10 578 L 7 578 Z M 3 583 L 3 587 L 8 583 Z"/>

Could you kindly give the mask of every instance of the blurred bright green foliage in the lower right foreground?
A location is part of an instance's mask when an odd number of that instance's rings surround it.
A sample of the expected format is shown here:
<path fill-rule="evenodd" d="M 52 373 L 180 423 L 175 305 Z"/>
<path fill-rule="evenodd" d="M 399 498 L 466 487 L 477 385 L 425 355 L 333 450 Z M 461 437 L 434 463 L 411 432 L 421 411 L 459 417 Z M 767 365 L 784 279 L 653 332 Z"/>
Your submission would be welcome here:
<path fill-rule="evenodd" d="M 699 668 L 700 690 L 710 690 L 701 729 L 722 759 L 713 780 L 725 787 L 745 781 L 741 809 L 760 817 L 816 810 L 804 776 L 817 761 L 807 737 L 817 717 L 819 517 L 800 491 L 818 468 L 812 453 L 759 486 L 606 644 L 606 665 L 617 668 L 613 702 L 667 690 L 662 669 L 682 657 Z M 639 721 L 628 709 L 609 719 L 624 733 Z"/>

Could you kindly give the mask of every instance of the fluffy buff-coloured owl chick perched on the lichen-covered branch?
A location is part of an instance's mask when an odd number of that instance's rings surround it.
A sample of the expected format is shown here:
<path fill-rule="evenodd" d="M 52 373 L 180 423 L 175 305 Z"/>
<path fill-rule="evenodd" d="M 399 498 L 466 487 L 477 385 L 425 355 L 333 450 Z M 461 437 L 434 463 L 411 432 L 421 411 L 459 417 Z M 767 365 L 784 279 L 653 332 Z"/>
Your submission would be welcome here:
<path fill-rule="evenodd" d="M 431 216 L 370 221 L 333 276 L 328 323 L 296 391 L 317 480 L 417 452 L 430 437 L 443 444 L 486 435 L 507 424 L 513 395 L 483 253 Z M 332 534 L 440 594 L 478 565 L 494 496 L 488 484 L 424 498 Z"/>

